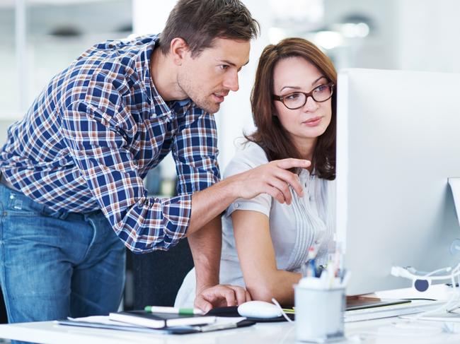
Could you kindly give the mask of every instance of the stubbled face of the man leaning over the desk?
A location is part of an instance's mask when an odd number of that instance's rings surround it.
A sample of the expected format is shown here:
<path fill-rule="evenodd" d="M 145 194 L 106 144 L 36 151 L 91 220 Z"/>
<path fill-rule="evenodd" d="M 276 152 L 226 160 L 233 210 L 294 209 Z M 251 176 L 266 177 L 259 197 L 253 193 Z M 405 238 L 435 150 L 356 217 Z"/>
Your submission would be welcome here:
<path fill-rule="evenodd" d="M 185 54 L 178 86 L 206 112 L 214 114 L 229 91 L 238 90 L 238 71 L 248 63 L 249 41 L 216 38 L 214 45 L 192 58 Z"/>

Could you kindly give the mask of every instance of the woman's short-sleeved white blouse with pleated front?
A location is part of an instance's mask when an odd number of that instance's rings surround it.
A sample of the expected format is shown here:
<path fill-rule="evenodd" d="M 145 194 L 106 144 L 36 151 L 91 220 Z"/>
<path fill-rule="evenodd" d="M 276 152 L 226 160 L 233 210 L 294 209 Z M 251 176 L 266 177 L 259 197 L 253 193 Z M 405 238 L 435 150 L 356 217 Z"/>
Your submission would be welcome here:
<path fill-rule="evenodd" d="M 251 170 L 268 162 L 263 149 L 249 142 L 236 153 L 224 172 L 224 177 Z M 290 206 L 281 204 L 268 194 L 255 198 L 238 198 L 222 217 L 222 258 L 219 282 L 246 287 L 241 272 L 233 232 L 231 213 L 235 210 L 255 210 L 269 218 L 270 236 L 275 249 L 277 268 L 300 272 L 308 260 L 309 247 L 318 245 L 317 262 L 327 263 L 328 253 L 334 250 L 335 182 L 311 175 L 302 170 L 299 180 L 304 188 L 301 198 L 292 191 Z M 247 230 L 251 230 L 248 228 Z M 176 307 L 192 307 L 195 299 L 195 268 L 185 277 L 176 297 Z"/>

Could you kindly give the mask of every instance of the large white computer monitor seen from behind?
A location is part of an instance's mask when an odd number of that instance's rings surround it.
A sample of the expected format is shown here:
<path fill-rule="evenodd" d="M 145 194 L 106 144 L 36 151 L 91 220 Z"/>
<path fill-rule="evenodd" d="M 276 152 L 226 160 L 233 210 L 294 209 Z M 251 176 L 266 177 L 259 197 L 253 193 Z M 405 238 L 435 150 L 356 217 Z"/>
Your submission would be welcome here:
<path fill-rule="evenodd" d="M 338 76 L 337 239 L 347 295 L 409 287 L 392 266 L 454 266 L 460 74 L 346 69 Z"/>

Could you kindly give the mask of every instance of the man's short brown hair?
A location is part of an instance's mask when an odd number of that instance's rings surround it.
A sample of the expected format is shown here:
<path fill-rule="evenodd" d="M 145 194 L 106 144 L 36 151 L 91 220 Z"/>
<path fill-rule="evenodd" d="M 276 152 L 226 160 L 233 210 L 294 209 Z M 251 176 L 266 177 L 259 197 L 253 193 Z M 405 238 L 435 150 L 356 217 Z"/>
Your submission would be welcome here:
<path fill-rule="evenodd" d="M 216 38 L 248 41 L 258 34 L 257 20 L 239 0 L 179 0 L 160 34 L 159 47 L 166 55 L 171 40 L 180 37 L 196 57 Z"/>

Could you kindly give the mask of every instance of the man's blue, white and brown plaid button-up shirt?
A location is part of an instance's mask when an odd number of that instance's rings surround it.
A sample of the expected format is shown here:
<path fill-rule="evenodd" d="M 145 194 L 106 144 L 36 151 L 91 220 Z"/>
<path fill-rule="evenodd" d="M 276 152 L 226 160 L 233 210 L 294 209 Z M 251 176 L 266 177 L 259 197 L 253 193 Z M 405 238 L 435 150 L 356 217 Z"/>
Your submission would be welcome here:
<path fill-rule="evenodd" d="M 102 210 L 134 252 L 168 249 L 190 223 L 192 193 L 219 180 L 212 114 L 165 102 L 149 73 L 158 36 L 95 45 L 52 78 L 8 129 L 0 170 L 52 210 Z M 149 198 L 143 178 L 172 151 L 178 196 Z"/>

